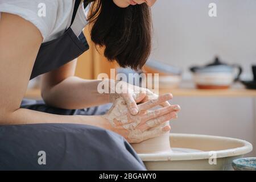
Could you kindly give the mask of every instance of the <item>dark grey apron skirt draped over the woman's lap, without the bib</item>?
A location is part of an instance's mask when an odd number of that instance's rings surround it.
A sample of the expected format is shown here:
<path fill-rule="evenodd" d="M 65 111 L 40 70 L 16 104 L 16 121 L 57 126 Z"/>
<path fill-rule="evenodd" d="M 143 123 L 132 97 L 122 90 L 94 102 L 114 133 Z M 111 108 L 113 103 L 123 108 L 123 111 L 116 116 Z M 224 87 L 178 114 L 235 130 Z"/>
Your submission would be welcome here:
<path fill-rule="evenodd" d="M 80 111 L 63 110 L 48 107 L 43 102 L 40 104 L 33 102 L 34 104 L 30 105 L 23 101 L 22 107 L 48 113 L 56 111 L 63 115 L 104 112 L 95 108 Z M 44 155 L 46 164 L 40 163 L 43 156 L 40 151 L 46 154 Z M 145 170 L 146 168 L 130 144 L 112 131 L 89 125 L 51 123 L 0 126 L 0 169 Z"/>

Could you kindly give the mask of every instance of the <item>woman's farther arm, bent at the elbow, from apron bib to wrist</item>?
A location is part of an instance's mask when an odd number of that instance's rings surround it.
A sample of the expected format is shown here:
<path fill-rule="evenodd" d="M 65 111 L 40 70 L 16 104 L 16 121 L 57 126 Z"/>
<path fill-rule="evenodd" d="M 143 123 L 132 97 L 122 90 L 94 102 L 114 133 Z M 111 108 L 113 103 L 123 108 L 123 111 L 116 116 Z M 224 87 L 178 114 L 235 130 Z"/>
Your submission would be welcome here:
<path fill-rule="evenodd" d="M 76 61 L 45 73 L 42 77 L 42 97 L 51 106 L 63 109 L 82 109 L 109 102 L 109 94 L 97 92 L 99 80 L 76 77 Z"/>

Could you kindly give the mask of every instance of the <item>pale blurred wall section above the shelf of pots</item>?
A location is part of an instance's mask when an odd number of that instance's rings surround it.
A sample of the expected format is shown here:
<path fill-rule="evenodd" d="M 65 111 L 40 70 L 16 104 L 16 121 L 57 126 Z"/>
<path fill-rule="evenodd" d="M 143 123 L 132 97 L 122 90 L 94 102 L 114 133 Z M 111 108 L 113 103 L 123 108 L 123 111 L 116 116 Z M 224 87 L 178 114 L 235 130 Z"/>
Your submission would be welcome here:
<path fill-rule="evenodd" d="M 208 15 L 209 3 L 217 5 L 217 17 Z M 158 0 L 152 8 L 154 47 L 152 58 L 184 71 L 205 64 L 214 55 L 227 63 L 243 65 L 250 78 L 256 64 L 255 0 Z M 189 78 L 188 72 L 184 74 Z"/>

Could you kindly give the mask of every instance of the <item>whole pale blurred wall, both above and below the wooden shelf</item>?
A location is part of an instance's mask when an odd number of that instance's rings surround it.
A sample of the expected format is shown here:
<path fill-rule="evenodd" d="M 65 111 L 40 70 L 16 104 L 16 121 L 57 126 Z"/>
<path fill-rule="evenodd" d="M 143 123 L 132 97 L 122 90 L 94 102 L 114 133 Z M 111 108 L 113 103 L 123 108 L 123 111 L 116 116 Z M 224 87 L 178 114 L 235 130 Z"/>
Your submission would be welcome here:
<path fill-rule="evenodd" d="M 216 18 L 208 15 L 211 2 L 217 4 Z M 189 66 L 206 64 L 219 55 L 227 63 L 241 64 L 242 78 L 252 77 L 250 65 L 256 64 L 255 0 L 158 0 L 152 16 L 152 59 L 183 68 L 184 78 L 189 79 Z M 252 98 L 176 97 L 172 103 L 182 108 L 179 118 L 171 122 L 174 133 L 256 142 Z"/>

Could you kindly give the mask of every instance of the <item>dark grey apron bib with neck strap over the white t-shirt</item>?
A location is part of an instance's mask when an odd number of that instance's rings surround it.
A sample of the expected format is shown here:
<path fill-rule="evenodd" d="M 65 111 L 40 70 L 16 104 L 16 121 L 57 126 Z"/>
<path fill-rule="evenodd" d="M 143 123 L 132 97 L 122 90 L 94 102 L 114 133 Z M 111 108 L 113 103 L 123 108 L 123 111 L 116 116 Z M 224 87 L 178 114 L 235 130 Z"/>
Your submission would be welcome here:
<path fill-rule="evenodd" d="M 61 67 L 69 61 L 76 59 L 89 49 L 84 34 L 81 32 L 79 38 L 77 38 L 71 29 L 80 2 L 81 1 L 75 2 L 71 24 L 64 34 L 40 46 L 30 79 Z"/>

